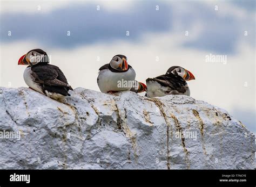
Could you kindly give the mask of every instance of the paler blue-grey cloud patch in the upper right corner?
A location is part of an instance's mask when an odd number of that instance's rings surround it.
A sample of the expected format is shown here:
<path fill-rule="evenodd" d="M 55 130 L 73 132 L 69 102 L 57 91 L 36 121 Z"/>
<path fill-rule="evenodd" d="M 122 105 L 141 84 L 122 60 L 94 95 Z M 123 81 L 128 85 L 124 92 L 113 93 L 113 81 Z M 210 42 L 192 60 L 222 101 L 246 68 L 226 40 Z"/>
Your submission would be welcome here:
<path fill-rule="evenodd" d="M 243 3 L 250 4 L 250 1 Z M 214 9 L 215 6 L 209 8 L 205 4 L 197 3 L 196 6 L 194 4 L 194 2 L 191 4 L 189 12 L 182 14 L 181 19 L 184 20 L 184 26 L 188 31 L 190 31 L 194 23 L 199 21 L 202 31 L 196 39 L 185 42 L 183 47 L 197 48 L 219 54 L 234 54 L 237 52 L 235 47 L 238 41 L 244 37 L 245 31 L 248 32 L 248 35 L 243 40 L 251 44 L 251 46 L 255 46 L 255 20 L 253 18 L 244 21 L 238 20 L 237 17 L 230 14 L 223 16 L 219 13 L 222 9 L 221 3 L 217 3 L 217 11 Z"/>

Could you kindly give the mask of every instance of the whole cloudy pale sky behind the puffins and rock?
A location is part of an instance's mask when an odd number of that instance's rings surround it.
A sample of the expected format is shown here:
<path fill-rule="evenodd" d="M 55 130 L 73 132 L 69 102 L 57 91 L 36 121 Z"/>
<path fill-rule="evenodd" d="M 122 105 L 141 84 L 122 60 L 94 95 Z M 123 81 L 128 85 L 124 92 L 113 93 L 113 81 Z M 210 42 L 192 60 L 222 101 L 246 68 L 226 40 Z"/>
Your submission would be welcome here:
<path fill-rule="evenodd" d="M 26 86 L 17 62 L 33 48 L 46 51 L 73 88 L 97 91 L 99 67 L 124 54 L 140 82 L 171 66 L 190 70 L 193 98 L 256 132 L 255 1 L 0 2 L 2 87 Z"/>

